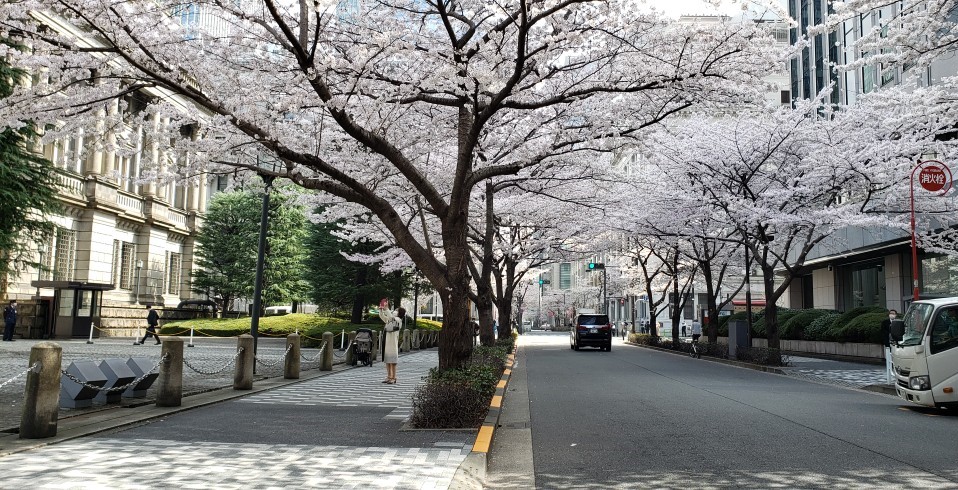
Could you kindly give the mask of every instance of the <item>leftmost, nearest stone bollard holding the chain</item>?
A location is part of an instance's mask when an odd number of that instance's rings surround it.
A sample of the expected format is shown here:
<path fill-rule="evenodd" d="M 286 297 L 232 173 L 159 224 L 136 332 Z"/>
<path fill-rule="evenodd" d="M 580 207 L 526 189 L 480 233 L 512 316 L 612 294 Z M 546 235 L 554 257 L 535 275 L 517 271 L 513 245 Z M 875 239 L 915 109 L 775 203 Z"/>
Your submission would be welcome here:
<path fill-rule="evenodd" d="M 30 349 L 30 366 L 39 362 L 39 371 L 27 373 L 20 414 L 20 439 L 42 439 L 57 435 L 60 414 L 60 363 L 63 349 L 54 342 L 39 342 Z"/>

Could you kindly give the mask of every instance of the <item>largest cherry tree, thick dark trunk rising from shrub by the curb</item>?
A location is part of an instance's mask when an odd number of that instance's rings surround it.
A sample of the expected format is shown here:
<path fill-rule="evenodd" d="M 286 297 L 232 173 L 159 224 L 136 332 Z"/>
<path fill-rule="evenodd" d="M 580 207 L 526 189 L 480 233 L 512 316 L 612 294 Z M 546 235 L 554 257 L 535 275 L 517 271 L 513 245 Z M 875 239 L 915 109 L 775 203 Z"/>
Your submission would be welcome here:
<path fill-rule="evenodd" d="M 758 97 L 776 63 L 761 26 L 670 23 L 632 0 L 21 0 L 0 4 L 0 28 L 33 48 L 0 54 L 38 75 L 0 125 L 101 135 L 100 152 L 139 118 L 172 145 L 146 159 L 150 178 L 225 165 L 367 209 L 442 298 L 442 369 L 471 352 L 474 190 L 695 103 Z M 117 103 L 134 92 L 153 97 L 136 114 Z M 423 214 L 438 235 L 410 230 Z"/>

